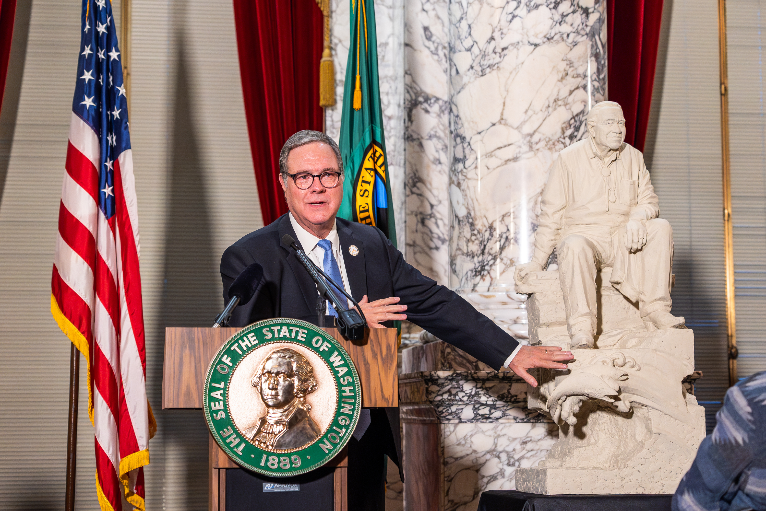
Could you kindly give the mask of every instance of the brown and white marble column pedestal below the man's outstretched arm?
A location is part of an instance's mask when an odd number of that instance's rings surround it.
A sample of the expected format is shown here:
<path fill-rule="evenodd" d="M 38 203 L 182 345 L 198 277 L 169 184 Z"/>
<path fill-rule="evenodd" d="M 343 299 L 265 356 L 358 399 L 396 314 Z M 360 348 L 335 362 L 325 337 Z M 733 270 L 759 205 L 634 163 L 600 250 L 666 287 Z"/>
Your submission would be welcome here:
<path fill-rule="evenodd" d="M 512 490 L 558 427 L 526 407 L 526 383 L 436 341 L 404 349 L 399 376 L 404 509 L 473 511 L 484 490 Z"/>

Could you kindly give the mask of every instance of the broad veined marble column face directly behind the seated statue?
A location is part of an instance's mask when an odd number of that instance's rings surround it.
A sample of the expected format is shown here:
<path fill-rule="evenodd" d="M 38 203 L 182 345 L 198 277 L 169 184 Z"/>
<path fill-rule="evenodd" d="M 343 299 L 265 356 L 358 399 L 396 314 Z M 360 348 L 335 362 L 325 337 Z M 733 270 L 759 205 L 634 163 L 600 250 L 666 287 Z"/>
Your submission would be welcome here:
<path fill-rule="evenodd" d="M 532 257 L 542 188 L 606 88 L 605 0 L 453 0 L 450 287 L 525 336 L 516 264 Z"/>

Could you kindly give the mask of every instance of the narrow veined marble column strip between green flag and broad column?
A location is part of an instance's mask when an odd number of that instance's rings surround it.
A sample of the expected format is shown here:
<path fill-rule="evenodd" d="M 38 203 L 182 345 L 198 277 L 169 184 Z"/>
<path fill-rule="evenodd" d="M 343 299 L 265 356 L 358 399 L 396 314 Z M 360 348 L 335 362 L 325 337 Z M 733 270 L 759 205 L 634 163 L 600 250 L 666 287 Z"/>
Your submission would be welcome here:
<path fill-rule="evenodd" d="M 409 0 L 404 12 L 408 263 L 450 280 L 448 0 Z"/>

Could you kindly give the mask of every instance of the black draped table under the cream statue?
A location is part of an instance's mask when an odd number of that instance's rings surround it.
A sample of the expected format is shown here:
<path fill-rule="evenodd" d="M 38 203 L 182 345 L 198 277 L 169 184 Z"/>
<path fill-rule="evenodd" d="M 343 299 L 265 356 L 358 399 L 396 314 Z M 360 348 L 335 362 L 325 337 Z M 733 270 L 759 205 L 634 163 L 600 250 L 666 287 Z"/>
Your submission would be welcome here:
<path fill-rule="evenodd" d="M 670 511 L 673 495 L 538 495 L 516 490 L 481 494 L 478 511 Z"/>

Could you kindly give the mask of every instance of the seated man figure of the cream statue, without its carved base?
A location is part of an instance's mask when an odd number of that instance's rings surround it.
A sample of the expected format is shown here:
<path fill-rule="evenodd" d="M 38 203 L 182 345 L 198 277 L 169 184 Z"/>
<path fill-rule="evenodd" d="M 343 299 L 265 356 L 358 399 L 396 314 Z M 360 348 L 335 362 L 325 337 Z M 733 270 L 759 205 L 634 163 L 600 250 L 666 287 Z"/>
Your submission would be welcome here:
<path fill-rule="evenodd" d="M 542 193 L 532 262 L 516 280 L 543 270 L 556 247 L 571 346 L 592 348 L 596 334 L 597 270 L 611 268 L 611 285 L 639 304 L 650 329 L 683 326 L 670 313 L 673 231 L 640 151 L 624 143 L 625 118 L 614 101 L 588 113 L 590 137 L 561 151 Z"/>

